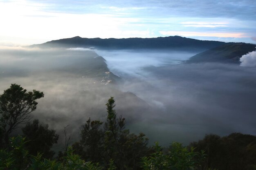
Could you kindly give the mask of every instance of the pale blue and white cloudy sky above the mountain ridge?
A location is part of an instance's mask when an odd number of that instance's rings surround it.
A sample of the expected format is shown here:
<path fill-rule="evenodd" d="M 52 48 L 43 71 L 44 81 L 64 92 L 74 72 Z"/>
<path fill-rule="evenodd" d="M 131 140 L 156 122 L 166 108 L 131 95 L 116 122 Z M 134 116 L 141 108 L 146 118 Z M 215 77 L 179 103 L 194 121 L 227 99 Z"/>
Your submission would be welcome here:
<path fill-rule="evenodd" d="M 0 0 L 0 46 L 83 38 L 256 43 L 256 0 Z"/>

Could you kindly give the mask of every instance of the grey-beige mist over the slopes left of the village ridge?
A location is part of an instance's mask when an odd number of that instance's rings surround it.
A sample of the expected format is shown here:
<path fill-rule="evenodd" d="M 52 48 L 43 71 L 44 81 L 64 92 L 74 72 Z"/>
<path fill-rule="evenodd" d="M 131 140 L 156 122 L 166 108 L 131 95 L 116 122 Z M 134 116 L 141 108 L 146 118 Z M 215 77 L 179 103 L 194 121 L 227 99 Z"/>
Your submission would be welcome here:
<path fill-rule="evenodd" d="M 2 47 L 0 56 L 0 94 L 13 83 L 27 91 L 43 91 L 45 97 L 38 100 L 31 115 L 56 130 L 59 147 L 65 141 L 64 126 L 70 125 L 68 133 L 74 142 L 80 138 L 79 127 L 89 117 L 105 121 L 110 96 L 115 97 L 117 113 L 129 123 L 141 120 L 137 113 L 148 110 L 134 94 L 102 82 L 105 65 L 92 50 Z"/>

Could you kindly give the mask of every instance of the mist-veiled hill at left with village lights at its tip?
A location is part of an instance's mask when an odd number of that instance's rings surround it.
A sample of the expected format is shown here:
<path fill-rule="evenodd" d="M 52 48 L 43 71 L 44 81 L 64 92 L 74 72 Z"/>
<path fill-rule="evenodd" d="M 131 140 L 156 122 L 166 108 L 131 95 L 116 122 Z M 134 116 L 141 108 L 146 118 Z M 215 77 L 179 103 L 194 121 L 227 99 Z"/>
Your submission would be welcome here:
<path fill-rule="evenodd" d="M 37 49 L 2 52 L 0 56 L 11 62 L 0 62 L 0 79 L 4 77 L 22 77 L 36 74 L 66 74 L 90 79 L 92 83 L 116 82 L 120 78 L 110 72 L 106 60 L 94 51 L 67 49 Z M 25 56 L 25 57 L 23 57 Z M 22 58 L 22 60 L 20 60 Z"/>

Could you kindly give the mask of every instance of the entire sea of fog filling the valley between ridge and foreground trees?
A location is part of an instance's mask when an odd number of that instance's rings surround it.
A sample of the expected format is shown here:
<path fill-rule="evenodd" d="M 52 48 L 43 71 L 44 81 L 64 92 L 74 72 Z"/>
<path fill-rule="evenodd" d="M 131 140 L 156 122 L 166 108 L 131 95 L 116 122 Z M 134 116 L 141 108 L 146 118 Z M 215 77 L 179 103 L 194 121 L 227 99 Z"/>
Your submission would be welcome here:
<path fill-rule="evenodd" d="M 102 84 L 88 66 L 102 56 L 120 79 Z M 32 118 L 71 142 L 90 117 L 106 120 L 105 104 L 115 97 L 118 115 L 131 132 L 144 132 L 150 144 L 189 144 L 205 134 L 256 135 L 256 68 L 233 64 L 182 64 L 195 53 L 90 49 L 0 48 L 0 92 L 11 83 L 43 91 Z M 79 67 L 79 69 L 78 69 Z M 98 68 L 97 68 L 98 69 Z M 65 71 L 63 71 L 65 70 Z M 82 70 L 82 71 L 81 71 Z M 64 144 L 63 144 L 64 145 Z M 60 146 L 59 146 L 60 147 Z"/>

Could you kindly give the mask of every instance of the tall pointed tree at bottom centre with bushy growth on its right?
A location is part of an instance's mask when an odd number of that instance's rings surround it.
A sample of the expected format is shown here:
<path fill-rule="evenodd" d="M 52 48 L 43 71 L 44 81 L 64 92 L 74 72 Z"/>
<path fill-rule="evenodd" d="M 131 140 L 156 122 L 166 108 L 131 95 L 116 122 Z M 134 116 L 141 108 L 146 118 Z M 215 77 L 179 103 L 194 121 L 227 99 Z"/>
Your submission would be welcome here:
<path fill-rule="evenodd" d="M 135 135 L 125 129 L 125 118 L 117 118 L 114 97 L 106 104 L 108 117 L 104 126 L 105 158 L 114 160 L 118 170 L 139 169 L 140 158 L 148 152 L 148 138 L 143 133 Z"/>

